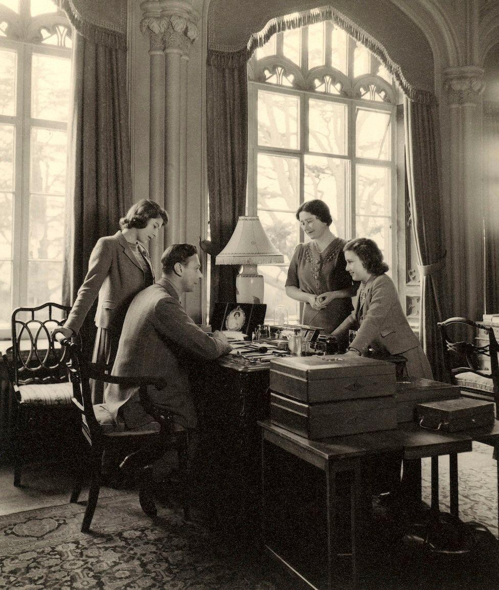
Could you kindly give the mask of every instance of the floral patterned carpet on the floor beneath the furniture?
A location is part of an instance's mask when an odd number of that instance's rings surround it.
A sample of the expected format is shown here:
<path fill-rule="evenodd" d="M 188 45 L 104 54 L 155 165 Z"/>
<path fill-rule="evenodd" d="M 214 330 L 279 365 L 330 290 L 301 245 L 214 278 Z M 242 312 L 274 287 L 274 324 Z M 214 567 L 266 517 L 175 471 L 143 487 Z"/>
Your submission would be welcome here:
<path fill-rule="evenodd" d="M 440 461 L 441 510 L 448 510 L 448 461 Z M 478 521 L 497 536 L 497 473 L 491 448 L 477 445 L 459 457 L 461 519 Z M 240 555 L 200 521 L 159 506 L 152 521 L 135 491 L 106 490 L 93 533 L 80 532 L 84 504 L 64 504 L 0 517 L 0 588 L 24 590 L 295 590 L 255 555 Z M 429 500 L 429 461 L 423 464 Z M 471 530 L 471 529 L 470 529 Z M 480 537 L 480 538 L 478 538 Z M 498 543 L 478 535 L 467 556 L 422 556 L 404 550 L 376 555 L 363 590 L 488 590 L 499 588 Z M 391 561 L 390 561 L 391 560 Z"/>

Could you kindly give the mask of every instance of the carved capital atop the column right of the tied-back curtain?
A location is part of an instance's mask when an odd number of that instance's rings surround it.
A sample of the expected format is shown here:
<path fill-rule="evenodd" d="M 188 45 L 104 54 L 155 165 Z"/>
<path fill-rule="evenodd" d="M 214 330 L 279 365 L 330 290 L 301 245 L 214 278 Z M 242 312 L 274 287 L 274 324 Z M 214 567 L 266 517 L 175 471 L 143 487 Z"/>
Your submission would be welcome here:
<path fill-rule="evenodd" d="M 485 90 L 484 70 L 475 65 L 446 68 L 443 88 L 450 107 L 475 106 Z"/>

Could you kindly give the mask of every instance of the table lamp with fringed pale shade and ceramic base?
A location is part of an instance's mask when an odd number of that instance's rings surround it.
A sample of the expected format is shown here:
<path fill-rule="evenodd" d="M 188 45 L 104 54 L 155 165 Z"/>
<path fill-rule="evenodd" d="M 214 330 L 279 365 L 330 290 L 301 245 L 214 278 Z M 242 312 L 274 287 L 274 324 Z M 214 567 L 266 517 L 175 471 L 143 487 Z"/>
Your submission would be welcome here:
<path fill-rule="evenodd" d="M 263 303 L 263 275 L 258 264 L 280 264 L 283 255 L 267 237 L 258 217 L 242 216 L 215 264 L 240 264 L 236 277 L 237 303 Z"/>

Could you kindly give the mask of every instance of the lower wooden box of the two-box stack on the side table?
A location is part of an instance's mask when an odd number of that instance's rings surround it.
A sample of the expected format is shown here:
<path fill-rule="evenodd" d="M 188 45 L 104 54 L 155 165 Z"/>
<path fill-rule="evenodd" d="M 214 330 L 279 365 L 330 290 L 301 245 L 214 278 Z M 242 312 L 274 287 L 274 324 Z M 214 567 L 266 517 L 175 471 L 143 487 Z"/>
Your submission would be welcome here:
<path fill-rule="evenodd" d="M 307 404 L 270 392 L 270 421 L 312 440 L 397 428 L 393 395 Z"/>

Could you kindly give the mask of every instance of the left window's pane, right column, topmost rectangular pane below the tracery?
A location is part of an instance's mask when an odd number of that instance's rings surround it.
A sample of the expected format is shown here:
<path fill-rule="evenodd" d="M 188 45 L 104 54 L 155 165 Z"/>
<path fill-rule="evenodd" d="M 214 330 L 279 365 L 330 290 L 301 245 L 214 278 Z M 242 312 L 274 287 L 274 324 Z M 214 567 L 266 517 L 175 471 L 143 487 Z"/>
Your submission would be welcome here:
<path fill-rule="evenodd" d="M 54 55 L 32 55 L 31 116 L 67 121 L 71 61 Z"/>

